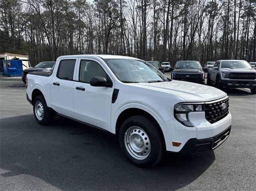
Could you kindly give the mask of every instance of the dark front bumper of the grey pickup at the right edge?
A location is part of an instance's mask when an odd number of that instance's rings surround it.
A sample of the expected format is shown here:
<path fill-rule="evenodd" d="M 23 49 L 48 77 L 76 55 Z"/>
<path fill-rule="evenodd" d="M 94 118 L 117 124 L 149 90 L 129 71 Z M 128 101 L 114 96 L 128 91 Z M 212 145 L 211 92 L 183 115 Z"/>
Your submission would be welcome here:
<path fill-rule="evenodd" d="M 230 88 L 252 88 L 256 86 L 256 80 L 222 79 L 220 82 L 222 86 Z"/>

